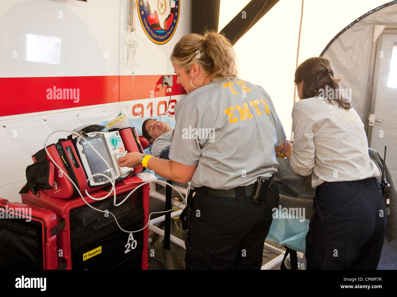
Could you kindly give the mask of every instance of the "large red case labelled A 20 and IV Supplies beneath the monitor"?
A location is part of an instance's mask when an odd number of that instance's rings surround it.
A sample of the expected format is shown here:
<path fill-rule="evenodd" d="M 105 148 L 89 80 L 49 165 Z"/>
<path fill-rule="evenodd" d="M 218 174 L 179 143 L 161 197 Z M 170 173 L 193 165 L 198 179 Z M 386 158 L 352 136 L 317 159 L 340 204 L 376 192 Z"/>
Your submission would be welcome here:
<path fill-rule="evenodd" d="M 119 202 L 120 199 L 125 197 L 131 190 L 139 186 L 142 180 L 139 179 L 139 177 L 133 176 L 128 179 L 128 182 L 129 182 L 128 184 L 124 182 L 116 183 L 116 187 L 115 187 L 116 196 L 119 199 L 117 202 Z M 94 198 L 101 198 L 108 194 L 109 189 L 110 187 L 106 187 L 98 191 L 95 191 L 93 193 L 90 193 L 90 195 Z M 135 207 L 135 212 L 137 215 L 138 215 L 137 208 L 142 206 L 142 210 L 143 210 L 143 214 L 140 217 L 141 220 L 139 222 L 135 222 L 134 226 L 129 226 L 129 227 L 133 227 L 132 230 L 141 229 L 148 222 L 149 189 L 150 188 L 148 184 L 143 185 L 140 189 L 138 189 L 138 191 L 135 192 L 139 194 L 135 195 L 134 198 L 135 200 L 130 203 L 132 207 Z M 107 225 L 110 225 L 110 223 L 104 223 L 104 226 L 96 226 L 96 227 L 94 226 L 94 228 L 96 228 L 97 231 L 92 232 L 92 235 L 96 237 L 92 242 L 88 243 L 85 240 L 86 237 L 89 237 L 89 234 L 87 234 L 86 231 L 82 229 L 83 227 L 81 228 L 74 227 L 75 225 L 77 226 L 77 221 L 79 221 L 81 225 L 84 224 L 89 225 L 91 224 L 90 220 L 93 220 L 94 216 L 96 217 L 96 219 L 98 219 L 99 216 L 104 217 L 103 213 L 93 210 L 93 212 L 89 214 L 91 208 L 88 209 L 89 206 L 85 204 L 85 202 L 83 201 L 83 199 L 81 199 L 80 196 L 73 197 L 71 199 L 60 199 L 60 198 L 51 198 L 48 195 L 46 195 L 44 191 L 40 191 L 40 192 L 41 192 L 40 198 L 31 194 L 30 191 L 28 191 L 28 193 L 26 194 L 21 194 L 22 202 L 28 205 L 39 206 L 52 210 L 59 218 L 62 218 L 65 221 L 65 227 L 62 230 L 60 230 L 58 233 L 57 244 L 58 244 L 58 254 L 59 251 L 62 252 L 62 258 L 66 262 L 66 269 L 68 270 L 72 268 L 73 269 L 106 269 L 106 267 L 103 267 L 106 265 L 108 266 L 107 268 L 109 269 L 112 268 L 128 269 L 131 268 L 128 266 L 129 265 L 128 263 L 131 263 L 132 261 L 131 257 L 135 258 L 134 263 L 136 263 L 137 257 L 139 257 L 139 253 L 133 251 L 133 241 L 130 240 L 129 237 L 130 233 L 123 232 L 117 228 L 117 231 L 120 232 L 115 233 L 116 231 L 114 231 L 113 233 L 105 234 L 104 237 L 98 238 L 98 236 L 100 236 L 98 235 L 98 233 L 100 233 L 101 230 L 103 230 L 103 228 L 107 228 L 108 227 Z M 102 201 L 96 201 L 90 199 L 85 194 L 83 194 L 83 197 L 89 204 L 96 203 L 98 205 L 101 204 L 101 202 L 105 203 L 106 201 L 109 202 L 111 201 L 111 206 L 113 207 L 113 194 L 111 194 L 110 197 Z M 133 197 L 133 195 L 131 195 L 130 198 L 131 197 Z M 127 201 L 129 201 L 130 198 Z M 123 204 L 121 206 L 123 206 Z M 102 206 L 103 205 L 104 204 L 102 204 Z M 109 203 L 106 205 L 110 206 Z M 121 206 L 118 207 L 121 208 Z M 86 208 L 83 209 L 82 207 L 86 207 L 87 209 Z M 100 207 L 97 208 L 101 209 Z M 106 209 L 102 209 L 102 210 L 106 210 Z M 108 209 L 108 211 L 114 212 L 115 215 L 117 216 L 116 212 L 118 211 L 125 212 L 126 210 L 118 210 L 118 208 L 116 207 L 114 208 L 114 210 Z M 108 214 L 108 217 L 111 218 L 113 224 L 116 225 L 113 216 Z M 100 222 L 104 220 L 101 219 L 97 221 L 100 224 Z M 124 226 L 122 227 L 123 229 L 125 229 Z M 130 231 L 130 229 L 127 229 L 127 231 Z M 141 233 L 140 232 L 133 233 L 133 237 L 137 238 L 137 242 L 138 242 L 135 243 L 135 247 L 138 247 L 138 249 L 141 250 L 140 269 L 146 270 L 148 268 L 148 228 L 145 228 L 143 231 L 141 231 Z M 123 240 L 125 240 L 125 243 L 127 244 L 122 244 Z M 85 241 L 84 244 L 82 243 L 83 241 Z M 115 246 L 116 242 L 119 243 L 117 247 Z M 120 246 L 122 247 L 122 253 L 120 251 Z M 108 254 L 106 249 L 108 249 Z M 109 252 L 110 250 L 111 252 Z M 125 259 L 125 257 L 128 257 L 128 259 Z M 121 261 L 118 263 L 120 265 L 118 264 L 116 265 L 118 267 L 112 266 L 112 264 L 109 262 L 110 259 L 112 258 L 117 258 L 118 260 Z M 96 261 L 93 261 L 91 259 L 95 259 Z M 101 264 L 97 263 L 98 261 L 99 262 L 102 261 Z M 93 263 L 95 262 L 95 263 L 90 266 L 89 262 L 93 262 Z M 137 268 L 136 266 L 134 267 Z"/>

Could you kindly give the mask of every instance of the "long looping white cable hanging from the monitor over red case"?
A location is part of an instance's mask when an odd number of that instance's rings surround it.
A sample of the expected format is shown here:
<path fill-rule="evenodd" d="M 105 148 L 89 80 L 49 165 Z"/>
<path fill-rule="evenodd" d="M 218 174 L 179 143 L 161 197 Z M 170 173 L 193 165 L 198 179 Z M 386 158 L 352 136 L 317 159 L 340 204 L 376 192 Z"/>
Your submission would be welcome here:
<path fill-rule="evenodd" d="M 185 204 L 186 204 L 186 200 L 185 200 L 185 198 L 183 197 L 183 195 L 181 194 L 181 192 L 179 192 L 179 190 L 178 190 L 177 188 L 175 188 L 173 185 L 171 185 L 170 183 L 167 183 L 166 181 L 161 181 L 161 180 L 154 181 L 154 183 L 165 183 L 165 184 L 167 184 L 167 185 L 170 185 L 173 189 L 175 189 L 175 191 L 177 191 L 177 192 L 179 193 L 179 195 L 182 197 L 182 200 L 183 200 L 183 201 L 182 201 L 178 206 L 175 206 L 175 207 L 171 208 L 170 210 L 164 210 L 164 211 L 160 211 L 160 212 L 151 212 L 151 213 L 149 214 L 149 216 L 148 216 L 148 222 L 147 222 L 146 226 L 144 226 L 142 229 L 135 230 L 135 231 L 127 231 L 127 230 L 124 230 L 123 228 L 121 228 L 121 226 L 119 225 L 119 222 L 117 221 L 116 216 L 115 216 L 112 212 L 110 212 L 110 211 L 104 211 L 104 210 L 100 210 L 100 209 L 98 209 L 98 208 L 95 208 L 94 206 L 92 206 L 91 204 L 89 204 L 89 203 L 84 199 L 83 194 L 81 194 L 81 192 L 80 192 L 80 190 L 79 190 L 79 187 L 77 187 L 77 185 L 73 182 L 73 180 L 69 177 L 69 175 L 67 175 L 67 173 L 64 172 L 64 171 L 62 170 L 62 168 L 60 168 L 60 166 L 58 166 L 58 164 L 54 161 L 54 159 L 53 159 L 53 158 L 51 157 L 51 155 L 48 153 L 48 150 L 47 150 L 47 141 L 48 141 L 48 138 L 50 138 L 50 136 L 51 136 L 52 134 L 57 133 L 57 132 L 68 132 L 68 133 L 72 133 L 73 135 L 77 135 L 78 137 L 81 137 L 81 138 L 82 138 L 82 139 L 83 139 L 83 140 L 96 152 L 96 154 L 98 154 L 98 155 L 100 156 L 100 158 L 105 162 L 106 166 L 108 166 L 108 169 L 110 170 L 110 172 L 112 172 L 112 170 L 110 169 L 110 166 L 109 166 L 108 162 L 106 162 L 106 160 L 101 156 L 101 154 L 91 145 L 91 143 L 89 143 L 89 141 L 87 141 L 87 139 L 85 139 L 85 137 L 83 137 L 83 135 L 81 135 L 81 134 L 79 134 L 79 133 L 76 133 L 75 131 L 70 131 L 70 130 L 56 130 L 56 131 L 53 131 L 52 133 L 50 133 L 50 134 L 47 136 L 46 140 L 44 141 L 44 150 L 46 151 L 47 156 L 51 159 L 51 161 L 54 163 L 54 165 L 55 165 L 56 167 L 58 167 L 58 169 L 62 172 L 62 174 L 64 174 L 64 175 L 69 179 L 69 181 L 73 184 L 73 186 L 76 188 L 77 192 L 79 193 L 81 199 L 83 199 L 83 201 L 85 202 L 85 204 L 87 204 L 90 208 L 92 208 L 92 209 L 94 209 L 94 210 L 97 210 L 97 211 L 99 211 L 99 212 L 111 214 L 111 215 L 113 216 L 114 220 L 116 221 L 117 226 L 119 227 L 119 229 L 120 229 L 121 231 L 124 231 L 124 232 L 126 232 L 126 233 L 135 233 L 135 232 L 142 231 L 142 230 L 144 230 L 144 229 L 149 225 L 150 216 L 151 216 L 152 214 L 160 214 L 160 213 L 163 213 L 163 212 L 169 212 L 169 211 L 172 211 L 172 210 L 174 210 L 175 208 L 177 208 L 179 205 L 183 204 L 183 202 L 185 202 Z M 88 184 L 88 181 L 89 181 L 92 177 L 94 177 L 94 176 L 96 176 L 96 175 L 105 176 L 107 179 L 109 179 L 110 183 L 112 184 L 112 189 L 110 190 L 110 192 L 108 193 L 108 195 L 106 195 L 105 197 L 102 197 L 102 198 L 94 198 L 94 197 L 92 197 L 91 195 L 88 194 L 87 189 L 85 190 L 86 195 L 87 195 L 89 198 L 93 199 L 93 200 L 103 200 L 103 199 L 106 199 L 107 197 L 109 197 L 109 195 L 113 192 L 113 193 L 114 193 L 114 201 L 113 201 L 114 206 L 119 206 L 119 205 L 121 205 L 121 204 L 129 197 L 129 195 L 131 195 L 133 192 L 135 192 L 135 190 L 137 190 L 139 187 L 142 187 L 143 185 L 145 185 L 145 184 L 151 182 L 151 181 L 145 181 L 144 183 L 141 183 L 141 185 L 139 185 L 138 187 L 136 187 L 135 189 L 133 189 L 133 190 L 127 195 L 127 197 L 125 197 L 125 198 L 123 199 L 123 201 L 121 201 L 120 203 L 116 204 L 116 189 L 115 189 L 114 175 L 112 175 L 112 179 L 110 179 L 110 177 L 108 177 L 108 175 L 105 175 L 105 174 L 101 174 L 101 173 L 93 174 L 93 175 L 91 175 L 91 176 L 87 179 L 87 184 Z M 188 191 L 189 191 L 189 189 L 188 189 Z M 186 197 L 187 197 L 187 195 L 186 195 Z"/>

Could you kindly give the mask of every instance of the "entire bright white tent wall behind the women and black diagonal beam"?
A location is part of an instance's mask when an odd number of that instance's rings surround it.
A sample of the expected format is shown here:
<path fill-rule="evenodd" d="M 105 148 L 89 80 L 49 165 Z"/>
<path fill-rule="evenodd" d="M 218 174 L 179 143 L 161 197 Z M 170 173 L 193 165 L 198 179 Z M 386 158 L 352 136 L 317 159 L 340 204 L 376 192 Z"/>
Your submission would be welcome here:
<path fill-rule="evenodd" d="M 244 1 L 221 0 L 222 24 L 236 15 L 236 7 L 240 10 L 244 7 L 246 3 L 241 2 Z M 304 0 L 299 63 L 320 55 L 343 28 L 385 3 L 385 0 Z M 268 92 L 288 139 L 292 136 L 293 79 L 301 7 L 300 0 L 280 0 L 234 46 L 240 62 L 239 76 Z"/>

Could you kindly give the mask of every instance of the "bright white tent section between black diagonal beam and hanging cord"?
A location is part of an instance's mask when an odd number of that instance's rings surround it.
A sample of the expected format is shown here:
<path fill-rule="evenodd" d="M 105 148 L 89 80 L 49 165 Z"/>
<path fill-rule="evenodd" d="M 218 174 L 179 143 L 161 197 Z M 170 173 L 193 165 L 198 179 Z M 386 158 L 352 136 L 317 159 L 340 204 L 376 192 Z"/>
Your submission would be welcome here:
<path fill-rule="evenodd" d="M 270 95 L 288 139 L 300 19 L 300 1 L 280 0 L 234 46 L 240 77 Z"/>

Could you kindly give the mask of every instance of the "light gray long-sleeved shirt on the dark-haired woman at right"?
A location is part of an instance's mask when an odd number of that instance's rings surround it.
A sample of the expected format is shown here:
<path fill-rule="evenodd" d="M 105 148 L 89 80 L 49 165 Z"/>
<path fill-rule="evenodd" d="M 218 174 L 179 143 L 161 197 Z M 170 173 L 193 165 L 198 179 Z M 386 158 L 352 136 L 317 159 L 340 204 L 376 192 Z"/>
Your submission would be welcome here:
<path fill-rule="evenodd" d="M 364 124 L 354 108 L 345 110 L 316 96 L 299 100 L 292 110 L 291 168 L 312 174 L 312 187 L 324 181 L 354 181 L 379 176 L 368 155 Z"/>

